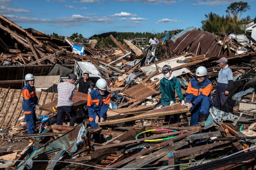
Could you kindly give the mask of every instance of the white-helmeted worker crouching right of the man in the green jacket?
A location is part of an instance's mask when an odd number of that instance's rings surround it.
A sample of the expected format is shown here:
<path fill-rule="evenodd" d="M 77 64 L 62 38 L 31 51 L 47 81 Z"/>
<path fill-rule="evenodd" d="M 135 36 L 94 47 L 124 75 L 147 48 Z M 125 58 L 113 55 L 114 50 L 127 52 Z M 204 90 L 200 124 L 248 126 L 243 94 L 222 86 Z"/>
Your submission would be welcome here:
<path fill-rule="evenodd" d="M 207 78 L 207 69 L 200 66 L 196 69 L 196 77 L 191 79 L 186 91 L 185 106 L 191 110 L 191 126 L 197 125 L 199 120 L 203 124 L 212 105 L 211 81 Z"/>

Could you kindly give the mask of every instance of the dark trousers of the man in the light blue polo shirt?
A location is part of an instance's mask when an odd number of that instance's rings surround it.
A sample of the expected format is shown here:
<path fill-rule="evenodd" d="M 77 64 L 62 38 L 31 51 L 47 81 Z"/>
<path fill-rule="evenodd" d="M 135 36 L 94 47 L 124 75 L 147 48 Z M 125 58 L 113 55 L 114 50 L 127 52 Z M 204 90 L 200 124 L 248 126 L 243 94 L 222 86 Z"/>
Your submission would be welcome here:
<path fill-rule="evenodd" d="M 228 96 L 225 95 L 225 91 L 227 89 L 227 84 L 218 83 L 216 87 L 216 94 L 214 98 L 214 107 L 221 110 L 224 103 L 228 99 Z"/>

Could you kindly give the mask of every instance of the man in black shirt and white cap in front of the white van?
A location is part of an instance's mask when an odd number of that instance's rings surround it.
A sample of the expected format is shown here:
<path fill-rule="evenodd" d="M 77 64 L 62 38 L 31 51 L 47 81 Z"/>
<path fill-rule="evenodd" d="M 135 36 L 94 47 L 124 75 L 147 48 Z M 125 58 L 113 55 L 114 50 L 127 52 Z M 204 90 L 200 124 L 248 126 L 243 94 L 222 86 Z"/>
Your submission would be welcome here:
<path fill-rule="evenodd" d="M 89 79 L 89 72 L 88 71 L 84 71 L 83 77 L 79 77 L 77 82 L 74 83 L 75 86 L 77 86 L 78 84 L 79 84 L 79 87 L 78 87 L 79 92 L 88 94 L 88 89 L 89 88 L 91 89 L 91 91 L 93 90 L 93 83 Z"/>

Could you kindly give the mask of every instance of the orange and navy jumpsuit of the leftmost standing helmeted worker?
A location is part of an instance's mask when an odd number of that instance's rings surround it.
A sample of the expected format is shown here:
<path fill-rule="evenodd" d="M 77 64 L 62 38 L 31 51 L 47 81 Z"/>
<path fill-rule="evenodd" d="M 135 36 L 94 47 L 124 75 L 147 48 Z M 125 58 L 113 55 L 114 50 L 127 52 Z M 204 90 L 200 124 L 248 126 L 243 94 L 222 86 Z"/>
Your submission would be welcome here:
<path fill-rule="evenodd" d="M 38 105 L 36 89 L 34 86 L 26 84 L 22 89 L 23 103 L 22 108 L 25 114 L 28 134 L 33 134 L 36 130 L 36 112 L 35 107 Z"/>

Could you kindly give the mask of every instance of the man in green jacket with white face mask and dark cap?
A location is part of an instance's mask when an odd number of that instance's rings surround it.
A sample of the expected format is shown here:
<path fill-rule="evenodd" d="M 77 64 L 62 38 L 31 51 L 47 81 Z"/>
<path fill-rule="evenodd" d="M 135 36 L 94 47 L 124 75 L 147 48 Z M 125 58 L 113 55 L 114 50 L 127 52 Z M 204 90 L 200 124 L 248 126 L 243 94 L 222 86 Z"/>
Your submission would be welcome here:
<path fill-rule="evenodd" d="M 164 78 L 160 81 L 160 91 L 161 91 L 161 103 L 163 107 L 170 106 L 175 101 L 175 89 L 176 93 L 181 101 L 181 105 L 185 104 L 184 97 L 181 92 L 181 87 L 179 80 L 172 75 L 172 68 L 169 65 L 164 65 L 162 68 L 162 73 Z M 171 120 L 171 123 L 177 123 L 179 119 L 179 114 L 174 114 L 174 118 Z M 165 115 L 165 122 L 170 121 L 170 115 Z M 168 124 L 168 123 L 164 123 Z M 164 125 L 163 124 L 163 125 Z"/>

